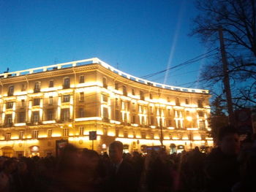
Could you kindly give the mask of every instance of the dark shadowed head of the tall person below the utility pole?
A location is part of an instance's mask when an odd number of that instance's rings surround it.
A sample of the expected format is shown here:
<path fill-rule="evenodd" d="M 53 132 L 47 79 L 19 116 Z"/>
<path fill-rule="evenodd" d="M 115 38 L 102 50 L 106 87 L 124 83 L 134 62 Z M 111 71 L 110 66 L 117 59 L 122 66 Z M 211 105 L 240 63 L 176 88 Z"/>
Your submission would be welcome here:
<path fill-rule="evenodd" d="M 233 126 L 219 128 L 218 145 L 225 155 L 237 155 L 240 150 L 238 130 Z"/>

